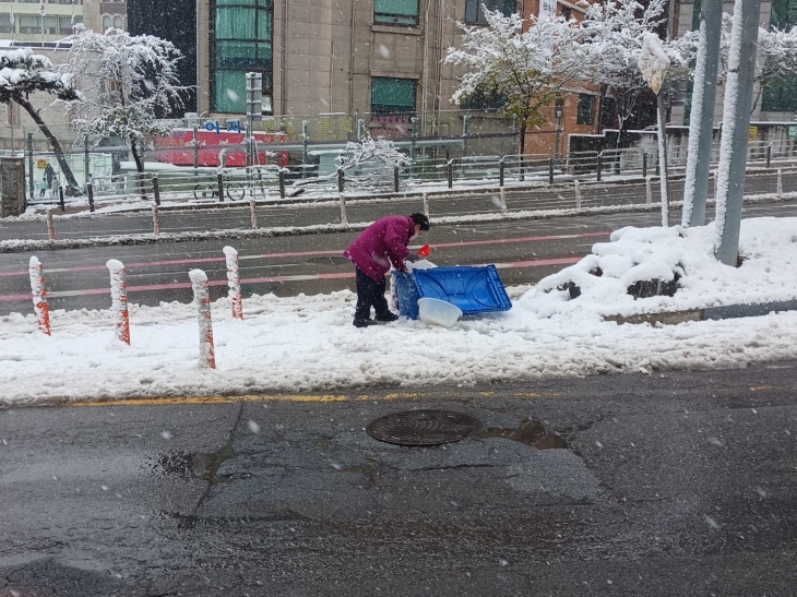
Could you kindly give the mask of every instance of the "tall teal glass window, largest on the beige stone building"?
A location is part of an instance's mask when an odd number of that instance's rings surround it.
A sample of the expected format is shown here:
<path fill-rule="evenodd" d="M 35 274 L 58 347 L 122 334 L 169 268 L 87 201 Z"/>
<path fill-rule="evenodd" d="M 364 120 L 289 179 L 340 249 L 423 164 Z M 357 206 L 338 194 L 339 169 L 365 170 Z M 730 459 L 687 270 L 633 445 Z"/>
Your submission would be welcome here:
<path fill-rule="evenodd" d="M 247 110 L 247 72 L 263 74 L 263 94 L 272 88 L 272 0 L 216 0 L 213 44 L 213 109 Z"/>

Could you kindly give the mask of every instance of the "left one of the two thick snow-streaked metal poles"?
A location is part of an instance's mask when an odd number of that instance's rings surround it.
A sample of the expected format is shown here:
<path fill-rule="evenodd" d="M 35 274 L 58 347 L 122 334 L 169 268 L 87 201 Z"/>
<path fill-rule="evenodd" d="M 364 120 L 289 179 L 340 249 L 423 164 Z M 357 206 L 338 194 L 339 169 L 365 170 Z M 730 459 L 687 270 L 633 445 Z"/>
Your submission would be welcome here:
<path fill-rule="evenodd" d="M 694 68 L 692 109 L 689 112 L 686 192 L 683 194 L 682 226 L 705 224 L 705 202 L 709 195 L 711 145 L 714 136 L 714 105 L 719 65 L 723 0 L 703 0 L 700 9 L 700 37 L 705 43 L 705 56 L 700 52 Z M 726 87 L 727 88 L 727 87 Z M 691 191 L 691 195 L 689 194 Z"/>

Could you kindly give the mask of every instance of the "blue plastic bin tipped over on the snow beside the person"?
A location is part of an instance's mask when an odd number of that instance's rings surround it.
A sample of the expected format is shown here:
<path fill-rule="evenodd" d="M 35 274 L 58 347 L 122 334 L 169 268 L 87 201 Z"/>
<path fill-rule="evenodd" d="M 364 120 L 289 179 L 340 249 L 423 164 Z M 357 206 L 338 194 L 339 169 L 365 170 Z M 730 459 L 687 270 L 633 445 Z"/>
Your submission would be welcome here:
<path fill-rule="evenodd" d="M 456 305 L 465 315 L 509 311 L 507 296 L 495 265 L 413 270 L 412 274 L 393 272 L 398 295 L 398 313 L 418 319 L 418 299 L 435 298 Z"/>

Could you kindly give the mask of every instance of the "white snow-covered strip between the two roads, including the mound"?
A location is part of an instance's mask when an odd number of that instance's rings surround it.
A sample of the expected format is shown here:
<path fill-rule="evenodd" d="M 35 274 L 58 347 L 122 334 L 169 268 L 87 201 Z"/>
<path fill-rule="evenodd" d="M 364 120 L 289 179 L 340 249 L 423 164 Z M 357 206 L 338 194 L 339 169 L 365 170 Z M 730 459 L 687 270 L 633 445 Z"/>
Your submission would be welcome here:
<path fill-rule="evenodd" d="M 513 288 L 511 311 L 461 320 L 452 329 L 420 321 L 366 330 L 352 325 L 353 292 L 252 297 L 243 321 L 213 305 L 217 369 L 201 369 L 191 305 L 130 308 L 131 346 L 115 339 L 110 311 L 55 311 L 52 336 L 33 315 L 0 319 L 0 401 L 254 394 L 360 386 L 468 385 L 746 367 L 797 358 L 797 312 L 673 326 L 619 325 L 630 315 L 797 297 L 797 218 L 742 222 L 739 268 L 717 264 L 711 226 L 624 229 L 595 254 L 543 280 Z M 603 276 L 588 274 L 599 265 Z M 679 268 L 674 297 L 634 300 L 626 286 Z M 578 282 L 569 300 L 556 289 Z M 549 290 L 549 291 L 545 291 Z"/>

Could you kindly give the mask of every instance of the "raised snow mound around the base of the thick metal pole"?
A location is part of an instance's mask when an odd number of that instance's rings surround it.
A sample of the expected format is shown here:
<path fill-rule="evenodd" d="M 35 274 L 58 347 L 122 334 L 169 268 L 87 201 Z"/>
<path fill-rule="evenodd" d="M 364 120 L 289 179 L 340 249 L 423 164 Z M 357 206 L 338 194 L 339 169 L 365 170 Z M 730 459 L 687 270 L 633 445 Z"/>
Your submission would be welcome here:
<path fill-rule="evenodd" d="M 742 265 L 714 259 L 714 225 L 693 228 L 622 228 L 593 254 L 539 282 L 519 302 L 538 317 L 632 315 L 724 305 L 783 301 L 797 297 L 795 218 L 741 223 Z M 634 299 L 628 288 L 641 280 L 677 278 L 675 296 Z M 581 290 L 571 298 L 569 283 Z"/>

